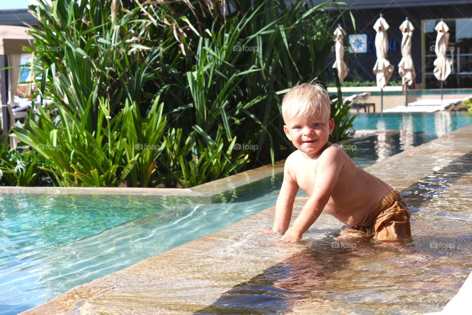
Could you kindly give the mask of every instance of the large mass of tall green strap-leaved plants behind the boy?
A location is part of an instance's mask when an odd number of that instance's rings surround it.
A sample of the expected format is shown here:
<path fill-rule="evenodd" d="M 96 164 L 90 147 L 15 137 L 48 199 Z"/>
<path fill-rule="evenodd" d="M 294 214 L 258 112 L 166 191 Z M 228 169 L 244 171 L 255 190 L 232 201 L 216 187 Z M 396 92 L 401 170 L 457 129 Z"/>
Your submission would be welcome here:
<path fill-rule="evenodd" d="M 324 81 L 338 2 L 120 3 L 113 21 L 110 0 L 30 7 L 32 71 L 53 102 L 15 133 L 59 185 L 188 187 L 286 157 L 280 95 Z"/>

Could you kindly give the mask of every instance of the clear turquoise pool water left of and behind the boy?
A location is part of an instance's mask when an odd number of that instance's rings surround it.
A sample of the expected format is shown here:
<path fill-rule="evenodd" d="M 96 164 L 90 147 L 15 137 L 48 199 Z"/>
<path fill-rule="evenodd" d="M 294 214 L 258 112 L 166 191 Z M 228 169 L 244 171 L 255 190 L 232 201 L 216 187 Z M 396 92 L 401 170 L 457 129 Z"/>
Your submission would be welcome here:
<path fill-rule="evenodd" d="M 356 140 L 355 150 L 346 152 L 365 167 L 466 126 L 469 117 L 361 114 L 355 121 L 358 129 L 378 129 L 380 124 L 399 131 Z M 416 121 L 424 122 L 423 129 L 415 127 Z M 275 204 L 281 181 L 279 174 L 222 194 L 214 203 L 198 198 L 0 194 L 0 314 L 17 314 L 266 209 Z"/>

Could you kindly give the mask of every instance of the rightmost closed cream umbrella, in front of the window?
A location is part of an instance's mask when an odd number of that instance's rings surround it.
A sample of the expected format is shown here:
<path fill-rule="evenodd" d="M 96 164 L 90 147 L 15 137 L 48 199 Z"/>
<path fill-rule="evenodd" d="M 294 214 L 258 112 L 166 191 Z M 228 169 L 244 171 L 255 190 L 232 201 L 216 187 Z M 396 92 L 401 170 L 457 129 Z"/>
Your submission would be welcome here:
<path fill-rule="evenodd" d="M 434 76 L 441 81 L 441 100 L 442 100 L 442 82 L 451 73 L 452 59 L 446 57 L 447 44 L 449 43 L 449 28 L 441 21 L 434 28 L 438 32 L 436 36 L 436 60 L 434 61 Z"/>

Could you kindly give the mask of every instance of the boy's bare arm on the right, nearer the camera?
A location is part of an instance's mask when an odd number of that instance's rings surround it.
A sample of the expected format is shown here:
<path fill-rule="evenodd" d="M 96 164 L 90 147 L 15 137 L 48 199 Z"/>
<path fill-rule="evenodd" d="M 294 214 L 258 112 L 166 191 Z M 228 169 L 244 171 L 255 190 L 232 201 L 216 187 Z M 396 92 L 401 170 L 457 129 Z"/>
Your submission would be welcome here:
<path fill-rule="evenodd" d="M 334 148 L 328 148 L 320 156 L 316 169 L 315 186 L 310 199 L 303 206 L 294 225 L 282 237 L 283 241 L 300 240 L 303 233 L 318 219 L 336 186 L 339 173 L 344 165 L 343 161 L 344 158 L 340 150 Z"/>

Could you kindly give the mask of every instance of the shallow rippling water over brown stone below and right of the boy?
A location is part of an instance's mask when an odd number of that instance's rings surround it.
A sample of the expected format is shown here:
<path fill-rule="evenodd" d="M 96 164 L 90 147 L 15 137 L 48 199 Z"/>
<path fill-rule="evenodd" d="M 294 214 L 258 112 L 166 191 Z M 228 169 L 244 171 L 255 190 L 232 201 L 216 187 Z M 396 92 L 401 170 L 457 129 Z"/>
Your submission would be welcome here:
<path fill-rule="evenodd" d="M 472 152 L 402 194 L 412 210 L 411 239 L 327 235 L 196 314 L 440 311 L 472 269 Z"/>

